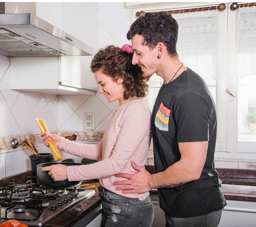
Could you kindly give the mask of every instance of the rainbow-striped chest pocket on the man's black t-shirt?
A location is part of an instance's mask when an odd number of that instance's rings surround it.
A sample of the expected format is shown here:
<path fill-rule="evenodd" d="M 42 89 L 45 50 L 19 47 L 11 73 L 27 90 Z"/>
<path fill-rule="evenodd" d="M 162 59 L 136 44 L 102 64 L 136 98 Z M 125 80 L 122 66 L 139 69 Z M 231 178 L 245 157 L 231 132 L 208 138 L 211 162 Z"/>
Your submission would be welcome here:
<path fill-rule="evenodd" d="M 155 116 L 155 127 L 162 131 L 168 131 L 170 113 L 171 110 L 164 107 L 164 104 L 161 102 L 161 105 Z"/>

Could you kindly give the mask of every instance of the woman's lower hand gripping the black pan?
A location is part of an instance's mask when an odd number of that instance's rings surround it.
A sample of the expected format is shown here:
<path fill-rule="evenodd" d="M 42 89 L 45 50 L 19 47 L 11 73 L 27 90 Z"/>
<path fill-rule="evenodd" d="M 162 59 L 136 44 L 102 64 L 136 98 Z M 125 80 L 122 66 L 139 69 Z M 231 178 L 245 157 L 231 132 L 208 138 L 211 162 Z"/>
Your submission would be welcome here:
<path fill-rule="evenodd" d="M 42 168 L 43 171 L 49 171 L 54 181 L 67 179 L 67 166 L 66 165 L 50 165 Z"/>

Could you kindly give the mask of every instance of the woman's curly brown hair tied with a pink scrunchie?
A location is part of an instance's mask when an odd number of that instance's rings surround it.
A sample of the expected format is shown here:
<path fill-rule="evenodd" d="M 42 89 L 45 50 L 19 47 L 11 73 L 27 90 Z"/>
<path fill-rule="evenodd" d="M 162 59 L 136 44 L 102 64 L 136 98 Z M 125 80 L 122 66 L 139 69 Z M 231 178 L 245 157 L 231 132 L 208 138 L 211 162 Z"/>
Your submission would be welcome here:
<path fill-rule="evenodd" d="M 93 73 L 101 71 L 117 82 L 118 78 L 124 78 L 124 98 L 144 97 L 148 91 L 146 79 L 138 65 L 132 65 L 133 53 L 122 51 L 121 48 L 108 46 L 100 49 L 95 54 L 91 63 Z"/>

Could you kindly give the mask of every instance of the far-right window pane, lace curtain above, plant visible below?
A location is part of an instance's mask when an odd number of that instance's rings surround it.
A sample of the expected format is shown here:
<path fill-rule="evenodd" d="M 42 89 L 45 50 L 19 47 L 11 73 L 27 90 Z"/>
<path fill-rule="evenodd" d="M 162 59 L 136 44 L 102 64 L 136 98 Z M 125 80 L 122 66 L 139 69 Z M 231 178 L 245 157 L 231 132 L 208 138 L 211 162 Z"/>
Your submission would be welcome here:
<path fill-rule="evenodd" d="M 238 141 L 256 142 L 256 7 L 238 10 Z"/>

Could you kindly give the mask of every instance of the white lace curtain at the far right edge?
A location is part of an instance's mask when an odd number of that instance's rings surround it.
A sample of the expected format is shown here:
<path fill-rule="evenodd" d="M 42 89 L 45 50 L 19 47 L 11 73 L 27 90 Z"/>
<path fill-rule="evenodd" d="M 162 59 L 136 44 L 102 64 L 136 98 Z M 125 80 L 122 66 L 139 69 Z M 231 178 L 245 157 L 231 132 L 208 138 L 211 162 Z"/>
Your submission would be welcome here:
<path fill-rule="evenodd" d="M 256 7 L 238 9 L 238 78 L 256 76 Z"/>

